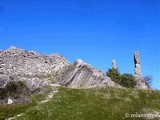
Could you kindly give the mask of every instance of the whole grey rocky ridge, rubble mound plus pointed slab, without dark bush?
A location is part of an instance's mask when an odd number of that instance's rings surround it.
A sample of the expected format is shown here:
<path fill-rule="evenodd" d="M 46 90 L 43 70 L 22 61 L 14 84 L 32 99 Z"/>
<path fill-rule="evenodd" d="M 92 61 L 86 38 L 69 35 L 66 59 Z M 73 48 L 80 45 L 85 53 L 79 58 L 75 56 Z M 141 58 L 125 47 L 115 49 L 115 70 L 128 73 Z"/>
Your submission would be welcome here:
<path fill-rule="evenodd" d="M 118 87 L 102 71 L 80 59 L 71 64 L 58 54 L 42 55 L 16 47 L 0 50 L 0 89 L 5 90 L 12 81 L 23 82 L 29 94 L 55 85 L 70 88 Z M 8 100 L 13 99 L 14 96 L 8 96 Z M 1 100 L 0 103 L 4 101 Z"/>

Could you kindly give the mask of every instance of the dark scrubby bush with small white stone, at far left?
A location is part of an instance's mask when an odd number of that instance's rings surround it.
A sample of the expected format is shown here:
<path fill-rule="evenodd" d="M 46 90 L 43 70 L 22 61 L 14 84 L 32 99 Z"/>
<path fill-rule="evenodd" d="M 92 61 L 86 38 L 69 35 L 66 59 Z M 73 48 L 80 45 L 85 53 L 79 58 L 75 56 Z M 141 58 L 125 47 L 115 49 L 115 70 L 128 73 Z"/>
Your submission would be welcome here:
<path fill-rule="evenodd" d="M 10 81 L 0 88 L 0 104 L 29 102 L 29 96 L 33 94 L 26 84 L 21 81 Z"/>

